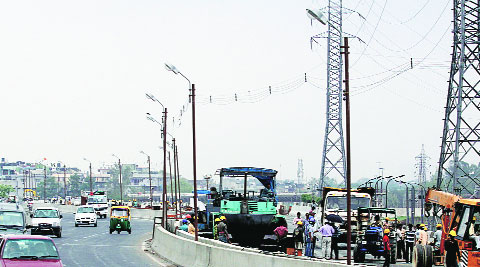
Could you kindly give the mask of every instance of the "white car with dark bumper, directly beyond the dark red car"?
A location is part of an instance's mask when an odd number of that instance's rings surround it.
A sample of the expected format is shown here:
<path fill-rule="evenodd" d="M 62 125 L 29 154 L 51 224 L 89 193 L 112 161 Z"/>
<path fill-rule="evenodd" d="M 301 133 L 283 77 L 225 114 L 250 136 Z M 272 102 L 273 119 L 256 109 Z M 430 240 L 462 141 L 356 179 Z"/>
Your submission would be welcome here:
<path fill-rule="evenodd" d="M 39 207 L 35 209 L 32 218 L 32 235 L 56 235 L 62 237 L 62 218 L 60 211 L 54 207 Z"/>

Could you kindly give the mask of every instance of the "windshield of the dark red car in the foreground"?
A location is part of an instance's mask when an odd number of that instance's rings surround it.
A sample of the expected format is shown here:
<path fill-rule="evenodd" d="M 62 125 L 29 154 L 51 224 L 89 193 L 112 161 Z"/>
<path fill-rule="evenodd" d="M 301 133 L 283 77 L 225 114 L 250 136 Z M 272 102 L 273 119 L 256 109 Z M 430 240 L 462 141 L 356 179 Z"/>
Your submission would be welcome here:
<path fill-rule="evenodd" d="M 4 259 L 48 258 L 58 259 L 57 248 L 51 240 L 9 239 L 3 249 Z"/>

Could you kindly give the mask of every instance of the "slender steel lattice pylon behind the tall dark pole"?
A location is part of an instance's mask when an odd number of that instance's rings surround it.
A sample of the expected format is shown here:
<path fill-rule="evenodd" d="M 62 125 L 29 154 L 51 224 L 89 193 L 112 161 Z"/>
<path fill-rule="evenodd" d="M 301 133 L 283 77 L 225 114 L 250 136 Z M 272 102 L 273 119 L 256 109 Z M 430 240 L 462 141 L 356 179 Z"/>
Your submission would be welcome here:
<path fill-rule="evenodd" d="M 328 1 L 327 120 L 323 144 L 320 189 L 331 172 L 346 182 L 342 126 L 342 1 Z M 333 178 L 333 177 L 332 177 Z"/>

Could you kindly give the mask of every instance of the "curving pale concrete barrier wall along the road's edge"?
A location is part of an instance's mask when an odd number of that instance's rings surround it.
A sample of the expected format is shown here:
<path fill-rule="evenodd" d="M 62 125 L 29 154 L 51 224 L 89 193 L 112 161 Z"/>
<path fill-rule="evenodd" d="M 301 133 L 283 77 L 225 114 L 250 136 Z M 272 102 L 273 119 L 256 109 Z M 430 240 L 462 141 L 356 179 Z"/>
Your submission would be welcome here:
<path fill-rule="evenodd" d="M 203 241 L 205 242 L 205 240 Z M 172 234 L 162 227 L 155 228 L 155 238 L 152 240 L 152 249 L 155 253 L 180 266 L 224 267 L 226 263 L 232 267 L 255 265 L 263 267 L 345 266 L 345 263 L 340 262 L 279 257 L 257 251 L 240 250 L 243 248 L 227 247 L 228 244 L 217 245 L 202 243 L 202 241 L 195 242 L 189 238 Z"/>

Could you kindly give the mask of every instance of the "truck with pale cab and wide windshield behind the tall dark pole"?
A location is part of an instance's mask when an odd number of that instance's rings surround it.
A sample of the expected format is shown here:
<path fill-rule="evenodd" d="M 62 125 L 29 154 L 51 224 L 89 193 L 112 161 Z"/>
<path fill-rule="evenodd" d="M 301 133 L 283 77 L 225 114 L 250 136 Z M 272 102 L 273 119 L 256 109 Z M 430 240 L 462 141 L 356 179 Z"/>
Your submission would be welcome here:
<path fill-rule="evenodd" d="M 375 189 L 371 187 L 359 187 L 357 189 L 350 190 L 351 192 L 351 205 L 352 216 L 351 225 L 352 229 L 352 243 L 356 242 L 357 236 L 357 213 L 358 208 L 368 208 L 371 206 L 372 196 L 375 194 Z M 320 202 L 320 222 L 322 225 L 327 221 L 326 217 L 330 214 L 336 214 L 343 219 L 343 223 L 340 224 L 340 235 L 337 243 L 347 242 L 347 189 L 324 187 L 323 197 Z"/>

